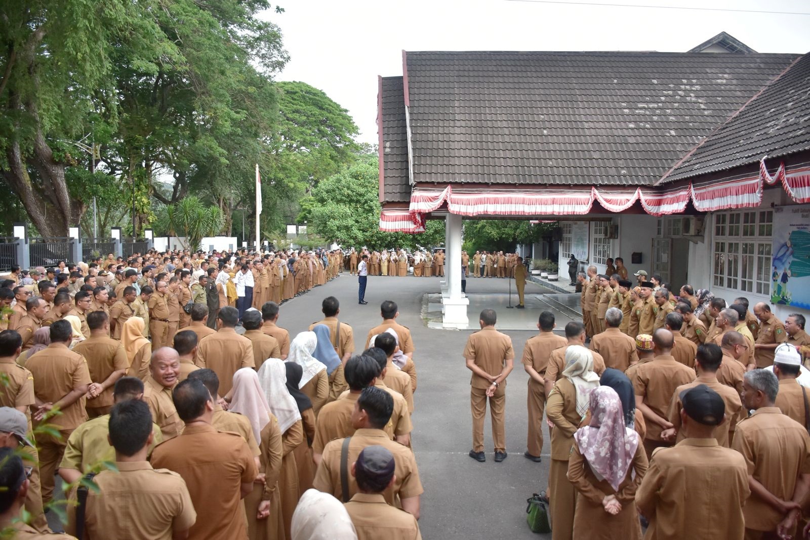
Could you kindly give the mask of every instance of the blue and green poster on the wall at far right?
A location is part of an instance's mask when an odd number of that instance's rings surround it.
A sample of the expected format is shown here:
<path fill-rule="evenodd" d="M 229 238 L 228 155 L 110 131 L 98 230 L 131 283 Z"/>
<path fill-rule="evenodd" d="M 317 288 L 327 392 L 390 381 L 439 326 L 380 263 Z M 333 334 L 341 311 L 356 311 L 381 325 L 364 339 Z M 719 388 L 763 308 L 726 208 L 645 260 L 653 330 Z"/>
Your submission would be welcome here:
<path fill-rule="evenodd" d="M 774 208 L 770 300 L 810 309 L 810 205 Z"/>

